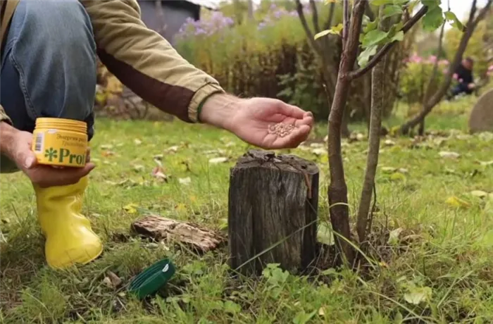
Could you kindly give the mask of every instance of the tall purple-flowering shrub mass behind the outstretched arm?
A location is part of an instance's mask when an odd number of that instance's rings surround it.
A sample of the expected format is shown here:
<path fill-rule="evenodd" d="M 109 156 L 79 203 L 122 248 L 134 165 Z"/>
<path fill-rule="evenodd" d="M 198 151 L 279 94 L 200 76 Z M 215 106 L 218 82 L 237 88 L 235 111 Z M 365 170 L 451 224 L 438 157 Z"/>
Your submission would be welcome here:
<path fill-rule="evenodd" d="M 312 26 L 311 13 L 307 13 Z M 327 19 L 329 6 L 320 6 L 320 22 Z M 256 18 L 261 14 L 256 13 Z M 332 24 L 342 21 L 340 7 L 335 11 Z M 313 28 L 312 28 L 313 29 Z M 216 77 L 228 91 L 239 96 L 268 96 L 283 99 L 310 110 L 317 120 L 326 119 L 329 113 L 327 96 L 323 87 L 322 67 L 308 46 L 306 34 L 296 11 L 270 5 L 270 10 L 254 22 L 235 23 L 221 12 L 203 16 L 199 21 L 189 20 L 176 39 L 179 53 L 198 68 Z M 340 42 L 331 37 L 330 48 L 338 56 Z M 401 58 L 406 55 L 404 43 L 396 46 L 387 64 L 390 83 L 398 81 Z M 330 53 L 328 55 L 331 55 Z M 397 59 L 397 64 L 392 63 Z M 329 70 L 337 71 L 339 61 L 334 60 Z M 347 114 L 352 120 L 368 116 L 370 105 L 370 75 L 354 82 Z M 389 84 L 390 85 L 390 84 Z M 392 89 L 392 88 L 391 88 Z M 328 89 L 329 92 L 333 89 Z M 392 93 L 397 92 L 392 89 Z M 385 114 L 392 110 L 395 95 L 389 94 Z"/>

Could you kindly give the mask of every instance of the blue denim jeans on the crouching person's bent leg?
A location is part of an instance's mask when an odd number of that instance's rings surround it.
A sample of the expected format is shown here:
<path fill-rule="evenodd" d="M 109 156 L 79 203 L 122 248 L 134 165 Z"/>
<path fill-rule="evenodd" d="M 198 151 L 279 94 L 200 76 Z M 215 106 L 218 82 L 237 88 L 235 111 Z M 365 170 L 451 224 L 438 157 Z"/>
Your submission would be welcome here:
<path fill-rule="evenodd" d="M 0 104 L 18 130 L 38 117 L 87 122 L 94 135 L 96 44 L 78 0 L 20 0 L 0 58 Z M 0 172 L 15 171 L 0 155 Z"/>

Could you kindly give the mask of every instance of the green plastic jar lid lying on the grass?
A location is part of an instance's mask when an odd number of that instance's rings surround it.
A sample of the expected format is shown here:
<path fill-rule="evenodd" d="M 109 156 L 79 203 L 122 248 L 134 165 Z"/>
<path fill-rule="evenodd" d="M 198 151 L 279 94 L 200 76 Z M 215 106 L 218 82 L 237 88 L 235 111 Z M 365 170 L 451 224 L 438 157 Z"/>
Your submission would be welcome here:
<path fill-rule="evenodd" d="M 154 294 L 166 285 L 175 274 L 175 266 L 168 258 L 154 263 L 146 270 L 139 273 L 128 287 L 129 292 L 136 294 L 137 298 L 143 299 Z"/>

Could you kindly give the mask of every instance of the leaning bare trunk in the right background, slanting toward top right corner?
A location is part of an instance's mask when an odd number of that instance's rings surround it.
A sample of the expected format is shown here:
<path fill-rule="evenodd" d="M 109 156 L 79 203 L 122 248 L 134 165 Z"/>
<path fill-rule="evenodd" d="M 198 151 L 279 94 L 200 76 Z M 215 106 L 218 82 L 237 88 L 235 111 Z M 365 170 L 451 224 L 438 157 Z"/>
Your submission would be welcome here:
<path fill-rule="evenodd" d="M 421 123 L 425 119 L 425 117 L 428 116 L 428 113 L 430 113 L 432 109 L 437 106 L 437 104 L 442 100 L 445 94 L 447 94 L 447 91 L 449 90 L 449 87 L 451 85 L 452 77 L 458 66 L 461 64 L 462 57 L 467 49 L 469 39 L 471 36 L 473 36 L 473 32 L 478 26 L 478 23 L 480 23 L 480 21 L 487 15 L 492 2 L 493 0 L 488 0 L 486 6 L 482 8 L 478 16 L 475 18 L 474 16 L 476 12 L 476 0 L 473 0 L 469 20 L 466 24 L 466 32 L 464 32 L 462 35 L 461 42 L 459 43 L 456 55 L 454 56 L 454 61 L 452 61 L 450 65 L 449 71 L 445 76 L 445 80 L 442 83 L 442 86 L 433 96 L 431 96 L 429 100 L 425 102 L 425 104 L 423 105 L 423 109 L 420 111 L 420 113 L 418 113 L 417 116 L 415 116 L 411 120 L 408 120 L 406 123 L 404 123 L 404 125 L 401 125 L 401 134 L 407 135 L 409 130 Z"/>

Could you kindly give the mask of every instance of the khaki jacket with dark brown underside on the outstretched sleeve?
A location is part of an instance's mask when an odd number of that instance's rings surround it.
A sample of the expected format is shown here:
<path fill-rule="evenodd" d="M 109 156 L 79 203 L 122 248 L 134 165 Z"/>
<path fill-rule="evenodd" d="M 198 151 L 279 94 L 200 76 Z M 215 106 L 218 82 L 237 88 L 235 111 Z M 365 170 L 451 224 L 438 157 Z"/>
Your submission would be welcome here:
<path fill-rule="evenodd" d="M 0 0 L 0 44 L 4 44 L 18 1 Z M 224 92 L 213 77 L 185 61 L 166 39 L 142 23 L 136 0 L 80 2 L 91 18 L 99 59 L 145 101 L 196 123 L 201 101 Z M 1 106 L 0 120 L 11 121 Z"/>

